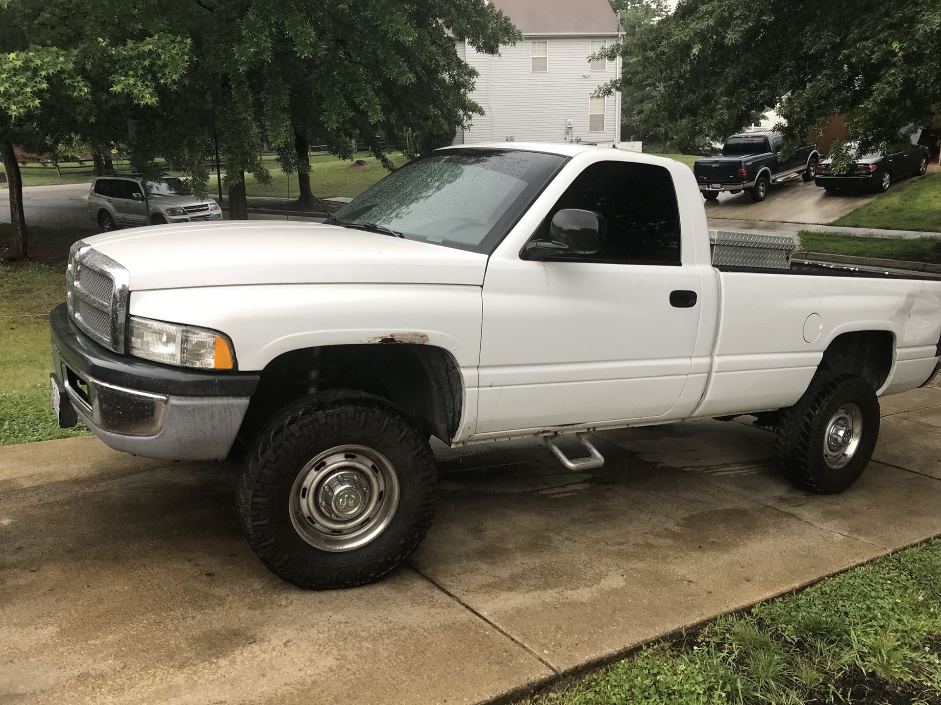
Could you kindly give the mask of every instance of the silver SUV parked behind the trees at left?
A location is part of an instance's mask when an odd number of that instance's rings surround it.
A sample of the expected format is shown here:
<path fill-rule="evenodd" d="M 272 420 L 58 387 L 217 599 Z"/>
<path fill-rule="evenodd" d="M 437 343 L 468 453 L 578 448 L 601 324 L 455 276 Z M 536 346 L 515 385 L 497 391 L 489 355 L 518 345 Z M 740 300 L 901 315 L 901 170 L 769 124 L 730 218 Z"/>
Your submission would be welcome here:
<path fill-rule="evenodd" d="M 107 232 L 119 227 L 222 220 L 212 198 L 199 198 L 183 180 L 136 174 L 97 177 L 88 192 L 88 217 Z"/>

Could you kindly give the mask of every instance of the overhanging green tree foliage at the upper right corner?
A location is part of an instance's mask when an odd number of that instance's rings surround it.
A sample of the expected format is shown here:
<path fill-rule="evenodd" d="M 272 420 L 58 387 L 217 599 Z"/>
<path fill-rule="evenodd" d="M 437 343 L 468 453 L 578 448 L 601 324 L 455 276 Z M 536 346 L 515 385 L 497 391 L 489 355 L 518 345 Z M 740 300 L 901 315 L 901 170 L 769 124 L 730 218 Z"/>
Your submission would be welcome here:
<path fill-rule="evenodd" d="M 677 140 L 721 139 L 775 107 L 793 145 L 846 116 L 872 149 L 941 106 L 937 0 L 680 0 L 623 46 L 621 86 L 654 86 L 645 119 Z"/>

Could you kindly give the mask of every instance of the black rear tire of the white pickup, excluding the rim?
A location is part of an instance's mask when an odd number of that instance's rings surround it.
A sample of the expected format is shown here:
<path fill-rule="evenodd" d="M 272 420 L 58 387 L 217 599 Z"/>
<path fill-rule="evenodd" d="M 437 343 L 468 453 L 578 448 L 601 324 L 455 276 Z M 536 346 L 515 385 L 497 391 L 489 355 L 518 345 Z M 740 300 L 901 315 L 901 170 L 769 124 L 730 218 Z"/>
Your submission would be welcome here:
<path fill-rule="evenodd" d="M 847 403 L 862 412 L 859 446 L 852 460 L 835 469 L 824 460 L 824 433 L 830 419 Z M 797 403 L 781 411 L 774 455 L 784 476 L 813 493 L 833 494 L 850 487 L 869 464 L 879 438 L 879 399 L 872 384 L 855 375 L 821 374 Z"/>

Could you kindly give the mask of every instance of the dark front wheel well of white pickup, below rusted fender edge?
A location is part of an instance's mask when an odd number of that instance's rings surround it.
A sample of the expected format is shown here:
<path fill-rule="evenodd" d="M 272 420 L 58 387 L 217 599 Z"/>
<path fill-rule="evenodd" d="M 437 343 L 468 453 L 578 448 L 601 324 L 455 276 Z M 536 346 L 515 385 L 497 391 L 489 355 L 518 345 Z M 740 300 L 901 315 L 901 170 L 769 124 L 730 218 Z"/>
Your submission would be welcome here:
<path fill-rule="evenodd" d="M 455 436 L 464 405 L 460 370 L 441 348 L 418 343 L 306 348 L 285 352 L 263 369 L 239 435 L 253 435 L 294 399 L 334 389 L 389 399 L 421 431 L 445 443 Z"/>

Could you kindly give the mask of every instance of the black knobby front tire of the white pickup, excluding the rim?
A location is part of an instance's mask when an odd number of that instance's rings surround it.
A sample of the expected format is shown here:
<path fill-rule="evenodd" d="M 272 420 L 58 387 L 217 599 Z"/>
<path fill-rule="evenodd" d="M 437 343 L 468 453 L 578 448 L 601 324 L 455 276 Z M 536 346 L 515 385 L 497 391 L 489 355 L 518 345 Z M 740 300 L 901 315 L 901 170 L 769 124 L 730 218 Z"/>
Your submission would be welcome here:
<path fill-rule="evenodd" d="M 289 500 L 305 464 L 335 446 L 375 448 L 393 464 L 399 501 L 374 540 L 343 552 L 314 547 L 295 529 Z M 314 394 L 271 419 L 253 444 L 238 485 L 248 543 L 265 567 L 299 587 L 370 583 L 401 564 L 435 517 L 438 467 L 426 435 L 386 399 L 357 391 Z"/>

